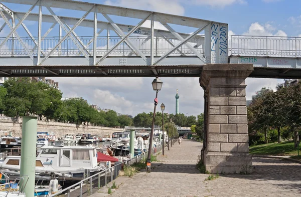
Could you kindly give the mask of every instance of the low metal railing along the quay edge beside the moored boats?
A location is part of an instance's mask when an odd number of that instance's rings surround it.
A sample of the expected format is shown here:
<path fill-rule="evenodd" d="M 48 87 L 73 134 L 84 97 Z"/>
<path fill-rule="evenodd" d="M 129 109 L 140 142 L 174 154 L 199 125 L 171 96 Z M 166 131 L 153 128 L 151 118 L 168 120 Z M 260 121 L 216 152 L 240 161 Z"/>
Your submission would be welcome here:
<path fill-rule="evenodd" d="M 157 147 L 157 151 L 160 151 L 161 149 L 162 149 L 162 146 Z M 154 148 L 152 149 L 152 153 L 154 153 Z M 112 166 L 110 168 L 107 168 L 107 169 L 105 169 L 103 171 L 100 171 L 100 172 L 98 172 L 96 174 L 93 174 L 93 175 L 91 175 L 91 176 L 89 176 L 87 178 L 84 178 L 84 179 L 80 180 L 79 182 L 77 182 L 77 183 L 75 183 L 75 184 L 73 184 L 73 185 L 71 185 L 69 187 L 66 187 L 66 188 L 60 190 L 59 192 L 52 194 L 50 197 L 54 197 L 54 196 L 63 194 L 65 192 L 67 192 L 67 195 L 69 197 L 70 196 L 70 189 L 72 189 L 74 187 L 77 187 L 77 186 L 79 186 L 79 190 L 80 190 L 79 196 L 82 197 L 82 194 L 83 194 L 83 184 L 85 184 L 85 182 L 88 182 L 88 181 L 90 183 L 88 190 L 90 191 L 90 194 L 92 194 L 93 184 L 95 184 L 95 183 L 93 183 L 93 180 L 95 180 L 96 177 L 98 178 L 98 180 L 97 180 L 97 188 L 99 189 L 100 188 L 100 182 L 101 182 L 101 180 L 100 180 L 101 176 L 105 176 L 105 180 L 104 180 L 105 184 L 104 185 L 106 185 L 108 183 L 107 182 L 107 174 L 108 173 L 110 173 L 110 181 L 113 181 L 115 178 L 118 177 L 118 171 L 117 171 L 117 173 L 114 172 L 115 174 L 117 174 L 117 176 L 113 177 L 113 170 L 115 170 L 116 168 L 119 168 L 121 170 L 121 165 L 122 164 L 126 164 L 127 166 L 129 166 L 129 165 L 131 165 L 133 163 L 142 161 L 143 159 L 145 159 L 145 154 L 147 155 L 147 152 L 143 152 L 143 153 L 141 153 L 139 155 L 134 156 L 131 159 L 125 160 L 123 162 L 120 162 L 117 165 L 114 165 L 114 166 Z"/>

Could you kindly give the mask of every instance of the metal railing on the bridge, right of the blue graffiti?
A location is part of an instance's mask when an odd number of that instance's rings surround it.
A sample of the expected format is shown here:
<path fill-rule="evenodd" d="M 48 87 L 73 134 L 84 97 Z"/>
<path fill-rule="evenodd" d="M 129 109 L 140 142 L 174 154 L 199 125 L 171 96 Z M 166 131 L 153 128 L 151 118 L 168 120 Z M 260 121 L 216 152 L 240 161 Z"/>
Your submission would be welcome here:
<path fill-rule="evenodd" d="M 229 55 L 301 57 L 300 37 L 232 35 Z"/>

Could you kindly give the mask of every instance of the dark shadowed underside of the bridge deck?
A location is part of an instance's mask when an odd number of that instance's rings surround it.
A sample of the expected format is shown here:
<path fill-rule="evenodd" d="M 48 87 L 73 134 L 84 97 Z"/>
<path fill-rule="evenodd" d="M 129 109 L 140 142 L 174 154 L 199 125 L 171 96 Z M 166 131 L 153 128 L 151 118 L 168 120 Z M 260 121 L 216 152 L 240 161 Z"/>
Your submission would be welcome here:
<path fill-rule="evenodd" d="M 225 65 L 226 66 L 226 65 Z M 0 77 L 200 77 L 203 65 L 1 66 Z M 254 67 L 249 77 L 301 79 L 301 69 Z"/>

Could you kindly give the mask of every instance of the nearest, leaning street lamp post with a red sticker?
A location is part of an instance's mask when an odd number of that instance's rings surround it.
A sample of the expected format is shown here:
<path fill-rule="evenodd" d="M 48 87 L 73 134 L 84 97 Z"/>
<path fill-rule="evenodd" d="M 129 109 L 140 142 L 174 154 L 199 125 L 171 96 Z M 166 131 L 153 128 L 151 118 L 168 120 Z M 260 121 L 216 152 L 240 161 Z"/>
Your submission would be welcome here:
<path fill-rule="evenodd" d="M 150 172 L 150 154 L 152 153 L 152 146 L 153 146 L 153 136 L 154 136 L 156 106 L 158 104 L 157 97 L 158 97 L 158 92 L 162 88 L 162 84 L 163 84 L 163 82 L 158 77 L 156 77 L 156 79 L 154 79 L 154 81 L 152 82 L 153 89 L 154 89 L 154 91 L 156 91 L 156 98 L 154 99 L 155 107 L 154 107 L 154 114 L 153 114 L 152 131 L 150 131 L 150 137 L 149 137 L 150 139 L 149 139 L 148 153 L 147 153 L 147 160 L 146 160 L 146 169 L 147 169 L 147 172 Z"/>

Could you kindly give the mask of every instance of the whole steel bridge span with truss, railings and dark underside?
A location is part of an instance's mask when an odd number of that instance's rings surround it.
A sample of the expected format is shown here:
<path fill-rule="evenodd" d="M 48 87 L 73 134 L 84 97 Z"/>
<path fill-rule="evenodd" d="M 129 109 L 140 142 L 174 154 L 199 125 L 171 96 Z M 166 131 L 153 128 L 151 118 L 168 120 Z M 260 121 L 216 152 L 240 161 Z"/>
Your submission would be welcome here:
<path fill-rule="evenodd" d="M 301 38 L 228 38 L 224 23 L 68 0 L 0 3 L 0 77 L 200 77 L 204 64 L 227 63 L 253 64 L 250 77 L 301 77 Z"/>

